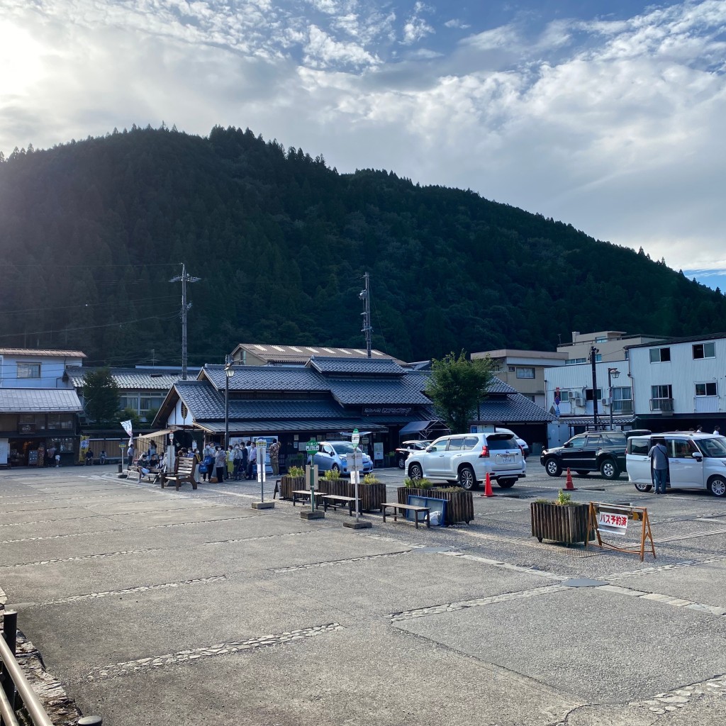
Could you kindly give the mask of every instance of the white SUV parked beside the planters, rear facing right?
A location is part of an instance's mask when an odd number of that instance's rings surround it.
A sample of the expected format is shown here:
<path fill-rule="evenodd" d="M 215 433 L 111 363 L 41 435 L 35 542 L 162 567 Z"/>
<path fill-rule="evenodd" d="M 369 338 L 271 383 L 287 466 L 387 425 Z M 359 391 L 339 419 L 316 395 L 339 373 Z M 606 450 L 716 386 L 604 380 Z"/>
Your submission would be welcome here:
<path fill-rule="evenodd" d="M 406 462 L 412 479 L 444 479 L 463 489 L 476 489 L 486 475 L 502 487 L 526 476 L 522 450 L 510 433 L 460 433 L 441 436 L 424 451 L 411 452 Z"/>

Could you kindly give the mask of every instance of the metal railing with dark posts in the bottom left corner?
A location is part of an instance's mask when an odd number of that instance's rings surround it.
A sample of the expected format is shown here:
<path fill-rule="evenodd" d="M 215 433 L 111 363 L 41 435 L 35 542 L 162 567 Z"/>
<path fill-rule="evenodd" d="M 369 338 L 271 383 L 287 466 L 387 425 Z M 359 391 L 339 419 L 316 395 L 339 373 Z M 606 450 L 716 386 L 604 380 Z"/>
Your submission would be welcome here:
<path fill-rule="evenodd" d="M 17 647 L 17 613 L 4 610 L 0 633 L 0 726 L 19 726 L 17 711 L 23 706 L 35 726 L 53 726 L 43 704 L 30 687 L 15 659 Z M 78 726 L 102 726 L 99 716 L 84 716 Z"/>

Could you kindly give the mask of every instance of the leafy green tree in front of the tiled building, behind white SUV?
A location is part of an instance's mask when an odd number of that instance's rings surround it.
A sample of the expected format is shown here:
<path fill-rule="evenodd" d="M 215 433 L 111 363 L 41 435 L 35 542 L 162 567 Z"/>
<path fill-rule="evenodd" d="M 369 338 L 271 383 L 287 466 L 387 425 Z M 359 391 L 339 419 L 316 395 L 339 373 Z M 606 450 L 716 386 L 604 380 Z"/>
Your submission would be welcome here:
<path fill-rule="evenodd" d="M 464 351 L 458 357 L 449 353 L 431 361 L 431 378 L 425 393 L 452 433 L 465 433 L 491 381 L 489 356 L 468 360 Z"/>

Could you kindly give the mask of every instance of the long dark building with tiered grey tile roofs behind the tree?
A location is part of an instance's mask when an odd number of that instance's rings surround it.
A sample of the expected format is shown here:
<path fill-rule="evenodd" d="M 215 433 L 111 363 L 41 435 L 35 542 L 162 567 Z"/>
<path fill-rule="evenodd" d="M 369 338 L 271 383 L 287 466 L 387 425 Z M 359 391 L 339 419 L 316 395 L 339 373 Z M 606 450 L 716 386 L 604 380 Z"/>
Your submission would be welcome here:
<path fill-rule="evenodd" d="M 232 443 L 275 437 L 282 466 L 309 439 L 340 439 L 357 428 L 361 445 L 383 463 L 401 437 L 446 433 L 424 393 L 429 375 L 391 358 L 313 355 L 303 365 L 207 365 L 197 380 L 174 383 L 154 423 L 173 430 L 180 446 L 223 443 L 227 431 Z M 530 440 L 543 442 L 552 415 L 495 378 L 476 418 L 475 425 L 537 431 Z"/>

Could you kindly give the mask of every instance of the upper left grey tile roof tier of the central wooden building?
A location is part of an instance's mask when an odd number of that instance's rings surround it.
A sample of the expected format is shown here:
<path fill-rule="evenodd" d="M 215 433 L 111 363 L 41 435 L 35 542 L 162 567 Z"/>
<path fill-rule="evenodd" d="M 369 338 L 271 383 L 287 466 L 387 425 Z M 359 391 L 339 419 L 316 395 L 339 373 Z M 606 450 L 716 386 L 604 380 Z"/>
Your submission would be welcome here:
<path fill-rule="evenodd" d="M 330 391 L 325 377 L 312 368 L 234 365 L 232 370 L 230 391 Z M 223 365 L 205 365 L 200 372 L 202 378 L 224 391 Z"/>

